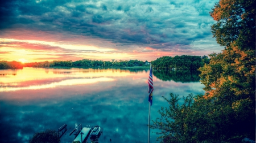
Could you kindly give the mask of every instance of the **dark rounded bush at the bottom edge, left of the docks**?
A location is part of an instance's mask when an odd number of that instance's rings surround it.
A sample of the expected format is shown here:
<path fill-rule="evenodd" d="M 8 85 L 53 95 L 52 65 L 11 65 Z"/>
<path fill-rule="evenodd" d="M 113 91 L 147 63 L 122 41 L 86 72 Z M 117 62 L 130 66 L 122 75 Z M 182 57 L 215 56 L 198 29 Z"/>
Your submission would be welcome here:
<path fill-rule="evenodd" d="M 46 131 L 37 132 L 31 138 L 30 143 L 59 143 L 59 132 L 46 129 Z"/>

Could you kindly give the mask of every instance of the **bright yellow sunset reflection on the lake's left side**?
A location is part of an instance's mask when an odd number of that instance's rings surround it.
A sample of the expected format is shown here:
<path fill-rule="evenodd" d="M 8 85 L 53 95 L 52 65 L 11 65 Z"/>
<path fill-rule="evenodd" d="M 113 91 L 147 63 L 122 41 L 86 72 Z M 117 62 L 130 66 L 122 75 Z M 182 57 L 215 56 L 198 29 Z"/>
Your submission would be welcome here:
<path fill-rule="evenodd" d="M 112 81 L 102 77 L 127 76 L 129 70 L 93 68 L 24 68 L 23 70 L 1 70 L 0 92 L 21 89 L 54 88 L 60 85 L 90 84 L 97 81 Z M 115 73 L 113 75 L 113 73 Z M 15 77 L 14 77 L 15 76 Z"/>

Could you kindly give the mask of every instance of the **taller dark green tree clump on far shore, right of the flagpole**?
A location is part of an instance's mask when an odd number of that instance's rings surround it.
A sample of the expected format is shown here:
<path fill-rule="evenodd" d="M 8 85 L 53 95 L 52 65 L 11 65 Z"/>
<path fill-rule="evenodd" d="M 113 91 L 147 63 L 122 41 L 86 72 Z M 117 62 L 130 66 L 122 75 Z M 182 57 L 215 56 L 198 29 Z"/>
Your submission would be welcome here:
<path fill-rule="evenodd" d="M 183 69 L 183 70 L 197 70 L 208 64 L 210 59 L 207 56 L 192 56 L 192 55 L 176 55 L 175 57 L 164 56 L 151 62 L 155 69 Z"/>

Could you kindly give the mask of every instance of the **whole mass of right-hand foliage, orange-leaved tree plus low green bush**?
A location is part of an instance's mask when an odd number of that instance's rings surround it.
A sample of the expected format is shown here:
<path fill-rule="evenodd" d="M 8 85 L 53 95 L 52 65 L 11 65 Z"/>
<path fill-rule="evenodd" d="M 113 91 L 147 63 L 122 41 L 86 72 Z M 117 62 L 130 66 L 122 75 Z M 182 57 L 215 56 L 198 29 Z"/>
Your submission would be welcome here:
<path fill-rule="evenodd" d="M 179 98 L 151 128 L 160 142 L 242 142 L 255 140 L 255 0 L 220 0 L 210 16 L 213 37 L 224 49 L 201 67 L 205 94 Z"/>

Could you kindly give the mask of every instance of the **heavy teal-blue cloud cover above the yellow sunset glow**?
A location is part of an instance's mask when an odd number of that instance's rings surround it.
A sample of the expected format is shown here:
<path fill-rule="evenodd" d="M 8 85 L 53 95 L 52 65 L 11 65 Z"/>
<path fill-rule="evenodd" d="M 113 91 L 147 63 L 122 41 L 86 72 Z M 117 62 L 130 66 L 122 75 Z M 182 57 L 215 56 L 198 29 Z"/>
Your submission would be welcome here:
<path fill-rule="evenodd" d="M 133 50 L 148 53 L 146 47 L 158 51 L 151 51 L 150 57 L 207 55 L 221 49 L 210 33 L 214 21 L 209 11 L 214 3 L 5 1 L 0 6 L 0 38 L 59 41 L 71 46 L 80 44 L 115 49 L 127 53 L 125 58 L 134 58 L 130 56 Z M 137 55 L 139 58 L 144 56 Z"/>

